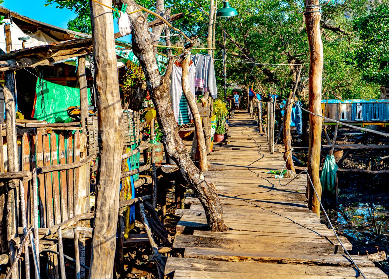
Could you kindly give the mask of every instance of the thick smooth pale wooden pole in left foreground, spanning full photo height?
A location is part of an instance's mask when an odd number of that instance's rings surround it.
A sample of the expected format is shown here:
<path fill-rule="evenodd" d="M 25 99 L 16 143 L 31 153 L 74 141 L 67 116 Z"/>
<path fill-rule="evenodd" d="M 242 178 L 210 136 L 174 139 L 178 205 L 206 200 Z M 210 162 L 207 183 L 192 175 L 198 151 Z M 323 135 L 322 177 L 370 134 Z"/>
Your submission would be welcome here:
<path fill-rule="evenodd" d="M 112 0 L 100 0 L 106 6 Z M 116 68 L 112 11 L 90 1 L 98 107 L 99 165 L 89 278 L 112 278 L 119 208 L 123 117 Z"/>

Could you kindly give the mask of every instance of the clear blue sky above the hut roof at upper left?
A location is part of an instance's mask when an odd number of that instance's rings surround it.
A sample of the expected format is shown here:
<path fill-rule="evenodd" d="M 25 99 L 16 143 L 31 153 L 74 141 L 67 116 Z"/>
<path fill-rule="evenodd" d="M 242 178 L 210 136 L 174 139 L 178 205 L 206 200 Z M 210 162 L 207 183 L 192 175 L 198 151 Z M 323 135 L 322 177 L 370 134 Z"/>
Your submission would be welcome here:
<path fill-rule="evenodd" d="M 27 16 L 29 18 L 62 28 L 67 27 L 69 19 L 76 17 L 74 11 L 67 9 L 56 9 L 56 4 L 44 7 L 44 4 L 46 4 L 46 1 L 44 0 L 5 0 L 2 6 L 23 16 Z M 119 32 L 119 28 L 117 27 L 117 20 L 114 20 L 114 32 Z M 120 40 L 128 41 L 131 39 L 130 36 L 126 36 L 120 38 Z"/>

